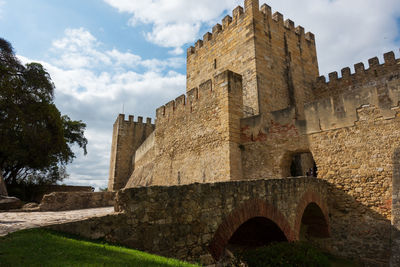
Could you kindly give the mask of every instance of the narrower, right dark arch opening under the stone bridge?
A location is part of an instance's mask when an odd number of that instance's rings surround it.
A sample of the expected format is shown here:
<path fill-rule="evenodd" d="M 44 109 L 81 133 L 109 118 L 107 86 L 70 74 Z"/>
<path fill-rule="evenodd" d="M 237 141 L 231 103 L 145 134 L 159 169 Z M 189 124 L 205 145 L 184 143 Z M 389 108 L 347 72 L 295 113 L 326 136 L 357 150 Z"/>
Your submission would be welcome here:
<path fill-rule="evenodd" d="M 301 218 L 299 239 L 311 241 L 315 238 L 328 238 L 329 227 L 321 208 L 312 202 L 304 209 Z"/>

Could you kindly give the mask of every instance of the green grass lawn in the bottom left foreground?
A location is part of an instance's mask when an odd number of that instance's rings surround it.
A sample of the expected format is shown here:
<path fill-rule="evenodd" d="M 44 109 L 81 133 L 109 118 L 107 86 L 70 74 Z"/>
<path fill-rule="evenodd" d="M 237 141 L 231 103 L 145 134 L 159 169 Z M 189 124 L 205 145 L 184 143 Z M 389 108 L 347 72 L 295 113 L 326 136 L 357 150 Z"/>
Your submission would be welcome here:
<path fill-rule="evenodd" d="M 0 237 L 0 266 L 196 266 L 44 229 Z"/>

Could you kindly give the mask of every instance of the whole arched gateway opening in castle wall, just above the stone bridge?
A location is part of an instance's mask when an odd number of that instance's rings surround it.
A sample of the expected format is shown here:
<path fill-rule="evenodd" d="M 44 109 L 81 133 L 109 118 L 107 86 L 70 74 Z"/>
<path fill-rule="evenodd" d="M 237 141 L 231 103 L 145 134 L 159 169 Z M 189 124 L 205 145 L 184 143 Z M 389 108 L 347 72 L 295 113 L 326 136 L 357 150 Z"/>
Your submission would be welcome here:
<path fill-rule="evenodd" d="M 281 163 L 283 177 L 317 177 L 318 167 L 310 151 L 289 152 Z"/>

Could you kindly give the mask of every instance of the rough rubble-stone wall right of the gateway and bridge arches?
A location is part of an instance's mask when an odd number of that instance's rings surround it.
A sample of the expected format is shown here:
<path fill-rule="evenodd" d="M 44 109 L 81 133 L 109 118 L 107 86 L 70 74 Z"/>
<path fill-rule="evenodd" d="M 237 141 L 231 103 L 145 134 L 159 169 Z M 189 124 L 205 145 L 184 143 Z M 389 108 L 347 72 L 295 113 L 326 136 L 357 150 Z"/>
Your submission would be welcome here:
<path fill-rule="evenodd" d="M 353 127 L 310 135 L 310 148 L 318 176 L 332 184 L 332 242 L 337 253 L 386 262 L 395 230 L 390 221 L 400 119 L 383 119 L 374 106 L 357 114 Z"/>

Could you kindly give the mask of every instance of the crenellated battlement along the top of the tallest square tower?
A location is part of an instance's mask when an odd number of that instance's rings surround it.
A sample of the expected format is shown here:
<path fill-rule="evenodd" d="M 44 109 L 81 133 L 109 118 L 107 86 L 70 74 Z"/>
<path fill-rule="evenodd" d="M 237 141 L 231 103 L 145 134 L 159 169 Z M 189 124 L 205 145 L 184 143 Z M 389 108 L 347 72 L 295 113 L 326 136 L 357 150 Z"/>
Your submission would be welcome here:
<path fill-rule="evenodd" d="M 256 5 L 258 6 L 258 1 L 250 1 L 250 2 L 256 2 Z M 309 42 L 310 44 L 315 45 L 315 36 L 311 32 L 305 33 L 304 28 L 302 26 L 297 26 L 295 27 L 295 23 L 290 20 L 286 19 L 284 20 L 284 17 L 281 13 L 275 12 L 272 14 L 271 7 L 268 6 L 267 4 L 263 4 L 261 8 L 254 10 L 252 9 L 252 3 L 247 4 L 245 2 L 245 6 L 247 8 L 243 8 L 242 6 L 236 7 L 232 11 L 232 16 L 227 15 L 225 16 L 221 23 L 217 23 L 212 27 L 212 32 L 207 32 L 206 34 L 203 35 L 203 39 L 197 40 L 197 42 L 193 45 L 190 46 L 187 49 L 187 57 L 189 58 L 192 55 L 195 55 L 199 51 L 206 49 L 212 49 L 214 46 L 215 42 L 217 41 L 222 41 L 225 40 L 224 34 L 226 32 L 232 32 L 235 30 L 240 30 L 239 28 L 243 26 L 243 22 L 246 22 L 244 18 L 253 18 L 258 16 L 258 19 L 260 22 L 265 23 L 266 20 L 269 19 L 269 21 L 273 22 L 276 24 L 276 27 L 280 27 L 285 29 L 288 33 L 292 33 L 293 35 L 297 35 L 298 38 L 303 39 L 304 41 Z M 253 7 L 254 4 L 253 4 Z M 257 14 L 258 13 L 258 14 Z M 249 22 L 252 22 L 252 20 L 249 20 Z"/>

